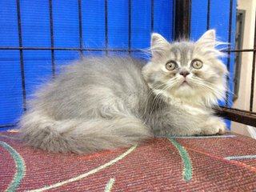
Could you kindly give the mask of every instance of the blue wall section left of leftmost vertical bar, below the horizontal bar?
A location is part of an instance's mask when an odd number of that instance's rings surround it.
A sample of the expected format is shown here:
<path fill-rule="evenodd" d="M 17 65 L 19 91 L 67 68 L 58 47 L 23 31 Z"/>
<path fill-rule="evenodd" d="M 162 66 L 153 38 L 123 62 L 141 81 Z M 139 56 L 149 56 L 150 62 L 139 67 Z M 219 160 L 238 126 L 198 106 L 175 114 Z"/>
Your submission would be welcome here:
<path fill-rule="evenodd" d="M 18 50 L 0 51 L 0 79 L 0 125 L 13 124 L 23 104 Z"/>

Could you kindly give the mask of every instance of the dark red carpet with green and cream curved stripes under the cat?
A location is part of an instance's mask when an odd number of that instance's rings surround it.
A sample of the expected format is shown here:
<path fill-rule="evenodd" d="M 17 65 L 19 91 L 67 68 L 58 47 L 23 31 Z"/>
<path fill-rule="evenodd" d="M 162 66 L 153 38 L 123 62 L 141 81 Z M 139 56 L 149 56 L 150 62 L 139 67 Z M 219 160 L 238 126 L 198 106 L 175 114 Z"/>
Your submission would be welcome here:
<path fill-rule="evenodd" d="M 130 149 L 53 154 L 0 132 L 0 191 L 256 191 L 256 140 L 154 138 Z"/>

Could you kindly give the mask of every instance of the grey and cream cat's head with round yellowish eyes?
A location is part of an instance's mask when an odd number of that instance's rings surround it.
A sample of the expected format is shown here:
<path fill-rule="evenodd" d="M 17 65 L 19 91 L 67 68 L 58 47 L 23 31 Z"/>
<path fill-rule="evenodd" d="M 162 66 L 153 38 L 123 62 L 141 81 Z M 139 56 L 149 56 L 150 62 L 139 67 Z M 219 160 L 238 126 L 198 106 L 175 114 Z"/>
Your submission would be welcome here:
<path fill-rule="evenodd" d="M 142 74 L 155 94 L 169 100 L 212 106 L 226 91 L 226 66 L 215 47 L 215 31 L 208 30 L 197 42 L 167 42 L 151 37 L 151 62 Z"/>

